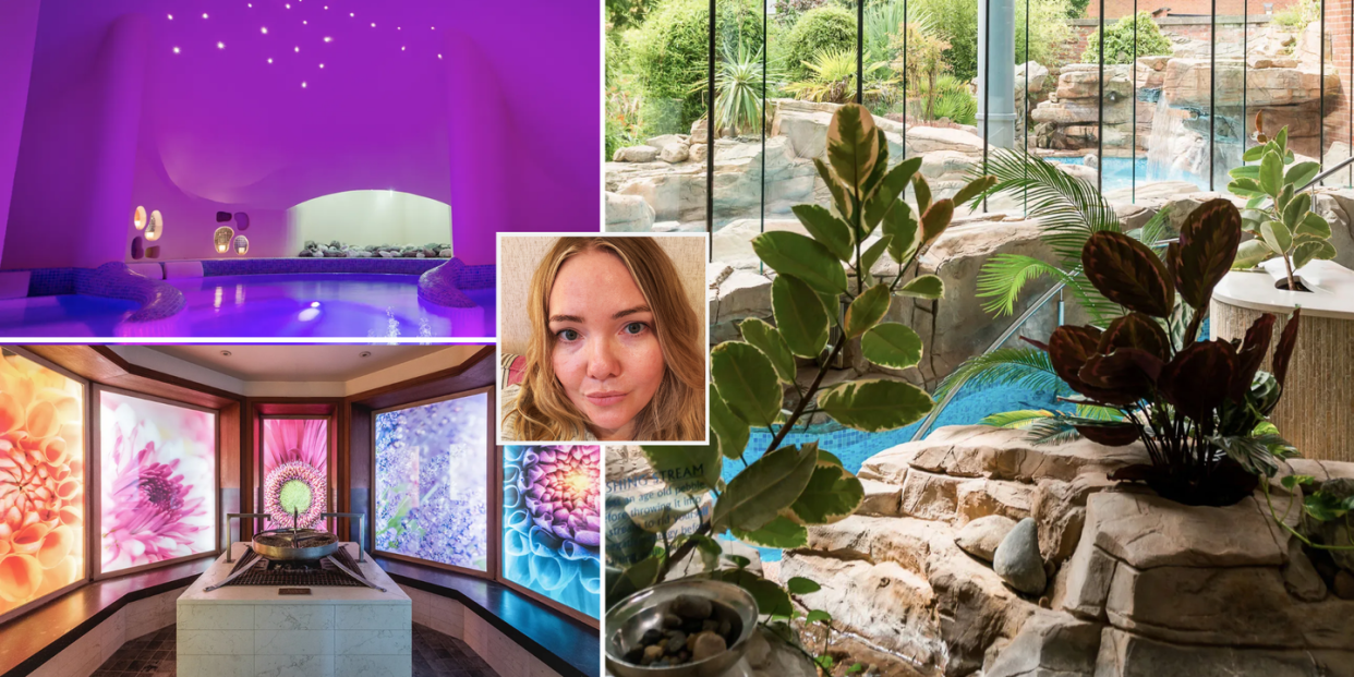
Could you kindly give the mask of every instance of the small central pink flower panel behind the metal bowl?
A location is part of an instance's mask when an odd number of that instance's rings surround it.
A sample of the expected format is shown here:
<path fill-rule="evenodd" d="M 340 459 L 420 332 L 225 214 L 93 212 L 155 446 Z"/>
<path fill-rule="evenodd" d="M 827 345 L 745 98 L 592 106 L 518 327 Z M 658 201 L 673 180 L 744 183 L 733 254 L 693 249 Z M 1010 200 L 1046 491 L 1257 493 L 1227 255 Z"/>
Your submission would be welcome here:
<path fill-rule="evenodd" d="M 263 512 L 267 528 L 324 528 L 329 512 L 329 420 L 263 420 Z M 292 520 L 295 517 L 295 520 Z"/>

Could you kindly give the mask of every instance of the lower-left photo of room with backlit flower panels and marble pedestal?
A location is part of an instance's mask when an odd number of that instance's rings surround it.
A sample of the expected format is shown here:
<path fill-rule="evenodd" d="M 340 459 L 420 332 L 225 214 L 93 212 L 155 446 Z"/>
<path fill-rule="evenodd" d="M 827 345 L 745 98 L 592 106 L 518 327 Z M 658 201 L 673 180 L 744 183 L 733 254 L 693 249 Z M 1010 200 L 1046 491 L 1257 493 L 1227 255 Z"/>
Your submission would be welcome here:
<path fill-rule="evenodd" d="M 600 677 L 601 448 L 492 344 L 0 345 L 0 677 Z"/>

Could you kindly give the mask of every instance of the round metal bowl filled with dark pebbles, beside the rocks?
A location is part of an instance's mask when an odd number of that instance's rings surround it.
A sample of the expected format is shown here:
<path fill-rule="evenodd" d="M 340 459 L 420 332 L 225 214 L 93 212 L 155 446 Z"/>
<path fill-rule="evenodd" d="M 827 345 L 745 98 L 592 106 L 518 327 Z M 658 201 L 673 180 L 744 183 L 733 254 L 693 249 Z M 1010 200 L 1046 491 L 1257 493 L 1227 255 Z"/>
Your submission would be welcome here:
<path fill-rule="evenodd" d="M 617 677 L 716 677 L 757 630 L 757 601 L 720 581 L 659 584 L 607 612 L 607 669 Z"/>

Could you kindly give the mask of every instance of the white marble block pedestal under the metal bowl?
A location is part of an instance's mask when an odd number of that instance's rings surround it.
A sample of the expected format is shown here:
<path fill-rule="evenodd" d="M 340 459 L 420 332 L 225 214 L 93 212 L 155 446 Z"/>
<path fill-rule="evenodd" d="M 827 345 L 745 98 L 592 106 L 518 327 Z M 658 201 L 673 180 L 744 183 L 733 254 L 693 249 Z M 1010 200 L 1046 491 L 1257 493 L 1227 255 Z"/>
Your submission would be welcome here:
<path fill-rule="evenodd" d="M 232 544 L 236 561 L 246 543 Z M 344 543 L 357 558 L 357 544 Z M 177 603 L 180 677 L 410 677 L 413 607 L 371 558 L 370 588 L 310 588 L 279 596 L 278 586 L 204 588 L 233 567 L 222 555 Z"/>

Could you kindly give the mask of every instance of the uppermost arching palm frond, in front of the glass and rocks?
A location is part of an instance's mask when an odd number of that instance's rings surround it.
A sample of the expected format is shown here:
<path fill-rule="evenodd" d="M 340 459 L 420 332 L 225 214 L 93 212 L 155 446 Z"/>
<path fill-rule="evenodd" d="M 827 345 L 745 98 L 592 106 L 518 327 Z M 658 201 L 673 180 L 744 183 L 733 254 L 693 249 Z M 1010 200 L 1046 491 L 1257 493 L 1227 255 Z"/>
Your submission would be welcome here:
<path fill-rule="evenodd" d="M 1118 214 L 1095 185 L 1040 157 L 998 149 L 986 167 L 975 165 L 969 173 L 971 179 L 984 173 L 997 177 L 997 184 L 974 198 L 972 204 L 1002 192 L 1025 196 L 1028 215 L 1039 219 L 1044 229 L 1043 240 L 1064 268 L 1080 261 L 1082 245 L 1093 233 L 1121 232 Z"/>

